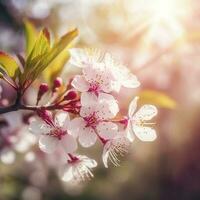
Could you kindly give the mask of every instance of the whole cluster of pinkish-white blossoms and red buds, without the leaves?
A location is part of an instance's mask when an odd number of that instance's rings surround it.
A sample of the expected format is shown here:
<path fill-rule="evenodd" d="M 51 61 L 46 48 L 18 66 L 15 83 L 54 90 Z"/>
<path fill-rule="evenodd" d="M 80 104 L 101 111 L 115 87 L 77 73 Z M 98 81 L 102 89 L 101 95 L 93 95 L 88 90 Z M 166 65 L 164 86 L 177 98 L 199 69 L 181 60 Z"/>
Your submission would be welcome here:
<path fill-rule="evenodd" d="M 76 75 L 70 85 L 64 87 L 64 92 L 63 89 L 60 92 L 64 86 L 62 80 L 54 81 L 53 101 L 37 110 L 30 131 L 39 137 L 39 147 L 45 153 L 62 152 L 61 179 L 80 181 L 93 177 L 91 170 L 97 162 L 77 154 L 77 143 L 89 148 L 98 140 L 102 144 L 104 166 L 108 167 L 108 161 L 118 166 L 119 156 L 127 153 L 134 135 L 142 141 L 156 139 L 155 130 L 148 126 L 152 123 L 147 121 L 157 114 L 157 109 L 144 105 L 136 112 L 138 97 L 135 97 L 127 116 L 119 117 L 114 94 L 122 87 L 139 87 L 136 76 L 108 53 L 71 49 L 70 54 L 70 63 L 81 68 L 82 74 Z M 40 86 L 37 104 L 48 90 L 44 84 Z"/>

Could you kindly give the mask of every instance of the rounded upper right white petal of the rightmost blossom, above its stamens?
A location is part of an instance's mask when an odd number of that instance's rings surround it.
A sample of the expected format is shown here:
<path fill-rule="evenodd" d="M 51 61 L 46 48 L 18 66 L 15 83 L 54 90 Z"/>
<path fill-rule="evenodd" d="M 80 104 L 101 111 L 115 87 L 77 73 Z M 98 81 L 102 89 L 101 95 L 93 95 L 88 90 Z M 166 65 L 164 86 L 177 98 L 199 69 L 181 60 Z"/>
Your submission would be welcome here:
<path fill-rule="evenodd" d="M 142 106 L 135 114 L 136 120 L 150 120 L 158 113 L 157 108 L 153 105 Z"/>

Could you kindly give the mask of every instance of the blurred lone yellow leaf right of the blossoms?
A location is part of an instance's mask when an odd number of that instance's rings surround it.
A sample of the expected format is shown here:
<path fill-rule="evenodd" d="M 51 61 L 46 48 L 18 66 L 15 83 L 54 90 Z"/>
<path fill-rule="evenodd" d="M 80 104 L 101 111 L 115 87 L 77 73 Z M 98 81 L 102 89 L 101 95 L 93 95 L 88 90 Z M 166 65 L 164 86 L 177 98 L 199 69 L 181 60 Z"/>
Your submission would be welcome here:
<path fill-rule="evenodd" d="M 163 92 L 143 90 L 137 94 L 142 104 L 153 104 L 162 108 L 175 109 L 176 101 Z"/>

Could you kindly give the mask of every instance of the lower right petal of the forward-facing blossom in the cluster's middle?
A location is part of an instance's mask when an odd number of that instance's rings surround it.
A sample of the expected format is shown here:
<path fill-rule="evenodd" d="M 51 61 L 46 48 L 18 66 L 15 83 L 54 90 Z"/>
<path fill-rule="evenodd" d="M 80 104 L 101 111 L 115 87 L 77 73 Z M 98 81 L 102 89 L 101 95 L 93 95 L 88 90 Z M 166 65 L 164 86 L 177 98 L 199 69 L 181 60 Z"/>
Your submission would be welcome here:
<path fill-rule="evenodd" d="M 112 139 L 117 134 L 117 125 L 112 122 L 101 122 L 97 125 L 98 134 L 104 139 Z"/>

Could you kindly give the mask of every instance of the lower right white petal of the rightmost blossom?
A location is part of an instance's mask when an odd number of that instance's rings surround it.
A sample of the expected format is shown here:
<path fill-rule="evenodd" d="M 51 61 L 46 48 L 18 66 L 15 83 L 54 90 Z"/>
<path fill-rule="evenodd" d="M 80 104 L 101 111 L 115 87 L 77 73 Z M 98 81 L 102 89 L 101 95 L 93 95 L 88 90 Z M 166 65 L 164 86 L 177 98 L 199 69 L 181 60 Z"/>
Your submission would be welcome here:
<path fill-rule="evenodd" d="M 150 127 L 133 126 L 135 135 L 144 142 L 154 141 L 156 136 L 156 131 Z"/>

